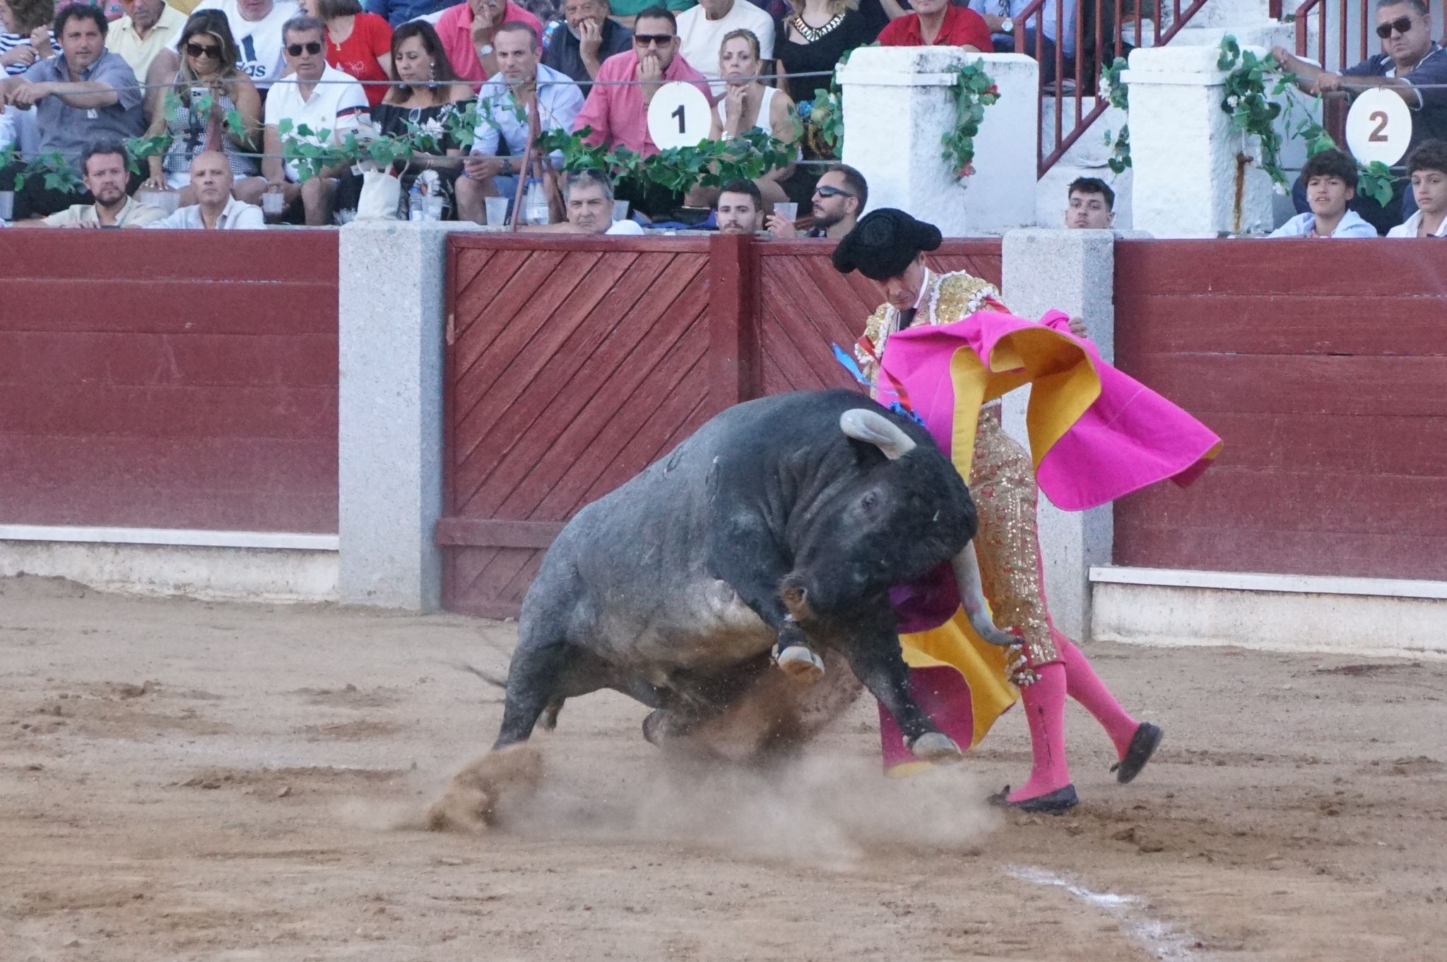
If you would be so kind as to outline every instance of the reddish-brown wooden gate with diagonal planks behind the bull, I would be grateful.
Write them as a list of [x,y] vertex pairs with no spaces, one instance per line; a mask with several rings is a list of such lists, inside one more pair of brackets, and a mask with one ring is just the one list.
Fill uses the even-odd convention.
[[[724,408],[852,380],[878,286],[831,242],[453,234],[443,603],[514,616],[563,524]],[[1000,281],[1000,242],[943,271]]]

